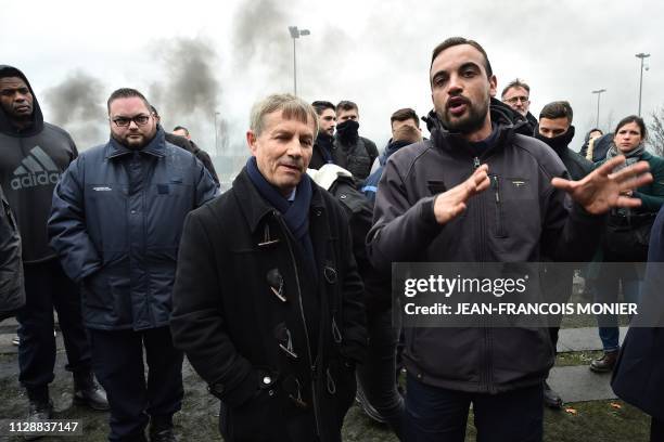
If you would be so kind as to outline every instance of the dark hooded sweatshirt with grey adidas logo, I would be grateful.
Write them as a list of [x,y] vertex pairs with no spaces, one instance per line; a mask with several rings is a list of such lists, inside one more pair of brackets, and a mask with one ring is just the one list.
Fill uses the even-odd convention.
[[33,94],[33,123],[20,130],[0,107],[0,184],[16,218],[26,264],[55,258],[47,237],[53,188],[76,158],[74,140],[43,121],[30,83],[15,67],[0,65],[0,78],[18,77]]

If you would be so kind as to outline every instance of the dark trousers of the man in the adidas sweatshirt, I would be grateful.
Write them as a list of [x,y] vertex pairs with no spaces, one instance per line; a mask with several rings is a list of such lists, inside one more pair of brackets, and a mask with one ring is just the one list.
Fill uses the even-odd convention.
[[53,308],[67,352],[66,369],[90,370],[90,344],[80,313],[80,296],[76,284],[64,273],[56,259],[24,265],[25,307],[18,321],[18,380],[28,390],[46,391],[53,381],[55,338]]

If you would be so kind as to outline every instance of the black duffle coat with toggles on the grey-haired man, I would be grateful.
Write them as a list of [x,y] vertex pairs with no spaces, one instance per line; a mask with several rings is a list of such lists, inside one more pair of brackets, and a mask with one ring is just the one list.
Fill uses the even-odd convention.
[[[170,327],[221,399],[226,440],[308,442],[317,427],[320,441],[341,440],[367,339],[362,284],[343,209],[314,187],[318,284],[246,168],[184,223]],[[318,306],[314,321],[307,304]]]

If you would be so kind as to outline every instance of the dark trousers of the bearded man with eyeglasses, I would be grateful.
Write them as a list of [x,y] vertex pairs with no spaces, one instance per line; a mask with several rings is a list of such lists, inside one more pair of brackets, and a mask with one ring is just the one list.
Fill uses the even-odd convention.
[[[182,405],[182,358],[169,327],[89,329],[92,367],[111,405],[110,441],[141,440],[150,418],[169,421]],[[148,381],[143,367],[143,347]]]

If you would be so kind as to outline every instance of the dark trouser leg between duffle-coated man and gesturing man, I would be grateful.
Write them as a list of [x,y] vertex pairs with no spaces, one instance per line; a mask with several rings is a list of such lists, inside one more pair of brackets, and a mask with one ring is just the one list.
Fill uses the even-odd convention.
[[392,310],[367,317],[369,346],[365,362],[357,367],[359,388],[369,403],[387,420],[397,437],[403,435],[404,399],[395,379],[399,328],[392,325]]

